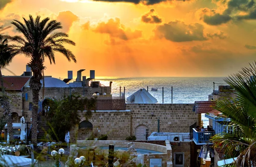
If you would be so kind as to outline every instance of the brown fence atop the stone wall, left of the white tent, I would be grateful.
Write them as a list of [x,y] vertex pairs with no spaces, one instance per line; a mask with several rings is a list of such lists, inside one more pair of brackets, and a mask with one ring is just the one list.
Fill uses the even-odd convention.
[[125,99],[123,97],[97,97],[95,110],[125,110]]

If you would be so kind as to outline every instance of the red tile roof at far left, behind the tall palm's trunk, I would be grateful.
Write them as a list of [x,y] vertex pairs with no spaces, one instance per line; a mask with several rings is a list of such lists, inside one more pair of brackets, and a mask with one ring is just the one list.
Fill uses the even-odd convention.
[[30,76],[3,76],[3,86],[6,91],[20,91],[29,79]]

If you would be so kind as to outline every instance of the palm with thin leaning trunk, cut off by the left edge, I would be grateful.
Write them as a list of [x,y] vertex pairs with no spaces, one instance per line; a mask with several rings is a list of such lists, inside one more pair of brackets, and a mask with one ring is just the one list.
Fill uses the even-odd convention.
[[15,52],[8,45],[7,39],[0,34],[0,81],[1,81],[1,88],[2,88],[2,96],[0,99],[0,104],[4,109],[4,116],[6,117],[6,120],[7,120],[7,128],[8,128],[10,141],[13,140],[12,115],[11,115],[9,98],[5,95],[5,89],[3,85],[3,76],[2,76],[1,70],[5,66],[9,65],[9,63],[12,61],[14,56],[15,56]]

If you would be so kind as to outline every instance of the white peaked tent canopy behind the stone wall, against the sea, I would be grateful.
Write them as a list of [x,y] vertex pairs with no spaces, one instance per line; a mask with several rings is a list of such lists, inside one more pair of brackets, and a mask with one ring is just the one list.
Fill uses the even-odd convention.
[[157,99],[154,98],[147,90],[140,89],[126,98],[127,103],[157,103]]

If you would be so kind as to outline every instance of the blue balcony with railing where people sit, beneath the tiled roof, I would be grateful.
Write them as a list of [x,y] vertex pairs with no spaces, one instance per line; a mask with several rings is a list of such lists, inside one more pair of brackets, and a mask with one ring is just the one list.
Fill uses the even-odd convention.
[[204,145],[206,143],[209,144],[209,140],[212,136],[215,135],[215,131],[212,132],[198,132],[193,128],[193,141],[197,145]]

